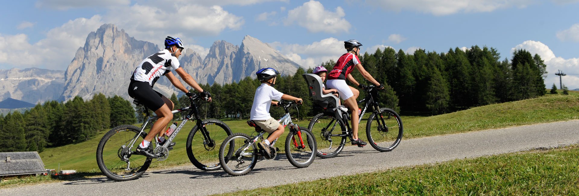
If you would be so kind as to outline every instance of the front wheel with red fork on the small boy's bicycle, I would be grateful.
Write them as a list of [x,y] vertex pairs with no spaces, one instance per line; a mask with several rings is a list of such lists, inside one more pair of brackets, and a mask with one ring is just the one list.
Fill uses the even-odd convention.
[[296,168],[305,168],[316,158],[316,138],[306,128],[299,129],[285,138],[285,156]]

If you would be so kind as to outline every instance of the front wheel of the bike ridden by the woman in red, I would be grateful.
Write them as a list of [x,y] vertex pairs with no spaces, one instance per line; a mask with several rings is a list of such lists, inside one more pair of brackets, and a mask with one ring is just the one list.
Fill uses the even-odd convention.
[[394,110],[380,108],[380,113],[372,113],[366,124],[368,143],[378,151],[391,151],[402,140],[402,120]]

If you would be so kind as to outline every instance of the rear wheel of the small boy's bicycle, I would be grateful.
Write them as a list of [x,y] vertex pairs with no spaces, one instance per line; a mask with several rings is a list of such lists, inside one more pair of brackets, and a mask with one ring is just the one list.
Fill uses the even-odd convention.
[[[247,134],[232,134],[225,138],[219,148],[219,163],[232,176],[246,175],[255,167],[258,157],[257,145]],[[244,150],[246,149],[247,150]]]

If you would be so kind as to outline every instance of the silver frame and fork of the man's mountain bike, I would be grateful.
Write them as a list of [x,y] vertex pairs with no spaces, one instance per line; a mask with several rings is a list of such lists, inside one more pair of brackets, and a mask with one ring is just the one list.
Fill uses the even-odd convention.
[[[189,121],[189,119],[191,119],[192,117],[195,117],[197,126],[199,126],[201,128],[201,134],[203,134],[203,137],[206,140],[204,142],[207,142],[208,146],[210,146],[210,147],[215,146],[215,142],[211,139],[206,127],[203,127],[201,125],[202,121],[201,121],[201,116],[200,116],[199,110],[197,109],[197,105],[195,104],[195,102],[193,102],[193,100],[195,100],[195,99],[196,98],[189,100],[190,106],[186,106],[185,108],[171,111],[171,113],[173,113],[173,114],[181,113],[181,112],[185,112],[185,111],[189,111],[189,113],[187,114],[185,119],[183,119],[183,121],[181,121],[181,124],[179,124],[179,126],[177,128],[175,128],[175,131],[173,131],[173,134],[171,134],[169,136],[169,138],[167,139],[167,142],[165,142],[165,144],[162,147],[167,147],[171,143],[171,141],[175,138],[175,136],[177,136],[179,131],[181,131],[181,128],[183,128],[185,123],[187,123],[187,121]],[[146,109],[146,107],[144,108],[144,110],[145,110],[145,116],[149,116],[149,110]],[[141,133],[145,131],[146,125],[151,123],[152,121],[157,120],[157,119],[159,119],[159,116],[156,116],[156,115],[148,117],[148,119],[145,121],[145,123],[143,123],[143,125],[141,127],[141,131],[137,135],[135,135],[135,137],[131,140],[131,143],[129,145],[129,151],[130,151],[131,147],[133,147],[134,143],[137,142],[138,136],[141,135]],[[163,130],[161,130],[161,131],[163,131]],[[159,147],[159,146],[157,146],[157,147]],[[131,152],[131,154],[134,154],[134,151],[130,151],[130,152]]]

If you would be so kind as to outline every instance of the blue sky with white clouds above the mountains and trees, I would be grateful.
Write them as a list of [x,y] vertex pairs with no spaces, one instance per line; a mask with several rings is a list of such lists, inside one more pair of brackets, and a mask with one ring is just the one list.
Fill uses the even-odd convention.
[[[0,69],[65,70],[89,32],[110,23],[156,44],[180,36],[202,55],[215,40],[240,45],[250,35],[302,66],[339,57],[348,39],[372,52],[479,45],[510,58],[522,48],[544,58],[551,87],[558,69],[579,74],[577,10],[579,0],[8,1],[0,8]],[[563,83],[579,88],[579,77]]]

